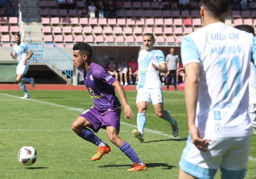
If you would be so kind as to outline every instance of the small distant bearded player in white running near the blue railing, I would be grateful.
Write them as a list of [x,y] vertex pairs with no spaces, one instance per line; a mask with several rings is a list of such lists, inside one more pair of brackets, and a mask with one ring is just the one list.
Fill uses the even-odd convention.
[[28,45],[24,42],[21,42],[21,35],[19,33],[15,33],[14,35],[15,41],[17,44],[13,47],[13,52],[10,52],[10,56],[13,59],[17,59],[18,57],[18,64],[16,68],[16,81],[19,83],[21,90],[24,92],[24,96],[21,99],[30,98],[28,91],[26,90],[26,86],[24,82],[29,82],[32,87],[35,87],[34,78],[24,78],[23,76],[28,71],[28,59],[32,57],[33,52],[28,48]]

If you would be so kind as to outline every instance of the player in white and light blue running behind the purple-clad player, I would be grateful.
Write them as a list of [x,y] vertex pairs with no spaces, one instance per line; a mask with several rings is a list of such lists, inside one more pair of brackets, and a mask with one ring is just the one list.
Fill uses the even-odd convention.
[[138,130],[134,129],[132,133],[141,142],[145,140],[143,131],[149,103],[152,103],[154,106],[154,111],[158,117],[171,124],[173,136],[177,137],[179,134],[177,121],[172,118],[168,111],[164,110],[164,98],[159,72],[167,73],[168,68],[164,53],[161,50],[154,49],[154,42],[154,36],[151,33],[145,33],[143,35],[143,46],[145,49],[139,52],[138,58],[139,80],[136,98]]

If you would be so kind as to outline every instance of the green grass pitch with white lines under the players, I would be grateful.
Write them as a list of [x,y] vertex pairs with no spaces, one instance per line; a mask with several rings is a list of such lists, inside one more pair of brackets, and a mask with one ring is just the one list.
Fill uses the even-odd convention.
[[[164,108],[179,124],[179,138],[171,138],[171,127],[158,118],[152,106],[146,114],[145,142],[132,136],[137,109],[136,92],[127,91],[134,119],[121,114],[120,137],[128,141],[147,164],[147,171],[126,172],[132,163],[107,139],[104,129],[96,134],[111,147],[100,161],[90,158],[97,147],[82,140],[70,129],[81,111],[92,106],[87,91],[30,90],[32,100],[20,100],[19,90],[0,91],[0,178],[1,179],[175,179],[179,160],[188,135],[184,92],[164,91]],[[16,97],[15,97],[16,96]],[[153,130],[153,131],[152,131]],[[23,146],[33,146],[38,160],[31,166],[19,163],[17,153]],[[234,156],[236,157],[236,156]],[[256,179],[256,135],[252,134],[246,179]],[[220,178],[220,172],[216,179]]]

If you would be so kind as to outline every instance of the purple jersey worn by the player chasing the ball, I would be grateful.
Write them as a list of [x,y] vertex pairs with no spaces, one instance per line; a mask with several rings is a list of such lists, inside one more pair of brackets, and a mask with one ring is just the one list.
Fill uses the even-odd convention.
[[115,88],[112,86],[116,79],[106,72],[102,66],[91,63],[88,72],[82,70],[82,74],[95,107],[104,109],[121,106],[115,95]]

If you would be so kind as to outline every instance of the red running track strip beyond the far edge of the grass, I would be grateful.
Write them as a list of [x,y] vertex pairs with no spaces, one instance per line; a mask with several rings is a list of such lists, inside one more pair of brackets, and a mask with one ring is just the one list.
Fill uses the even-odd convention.
[[[26,89],[33,89],[30,84],[26,84]],[[184,87],[177,87],[178,90],[183,91]],[[18,84],[0,84],[0,90],[21,90]],[[63,84],[36,84],[34,90],[87,90],[85,85],[63,85]],[[136,85],[124,86],[126,91],[135,91]],[[166,86],[162,87],[162,90],[166,90]],[[174,91],[174,87],[169,87],[170,91]]]

